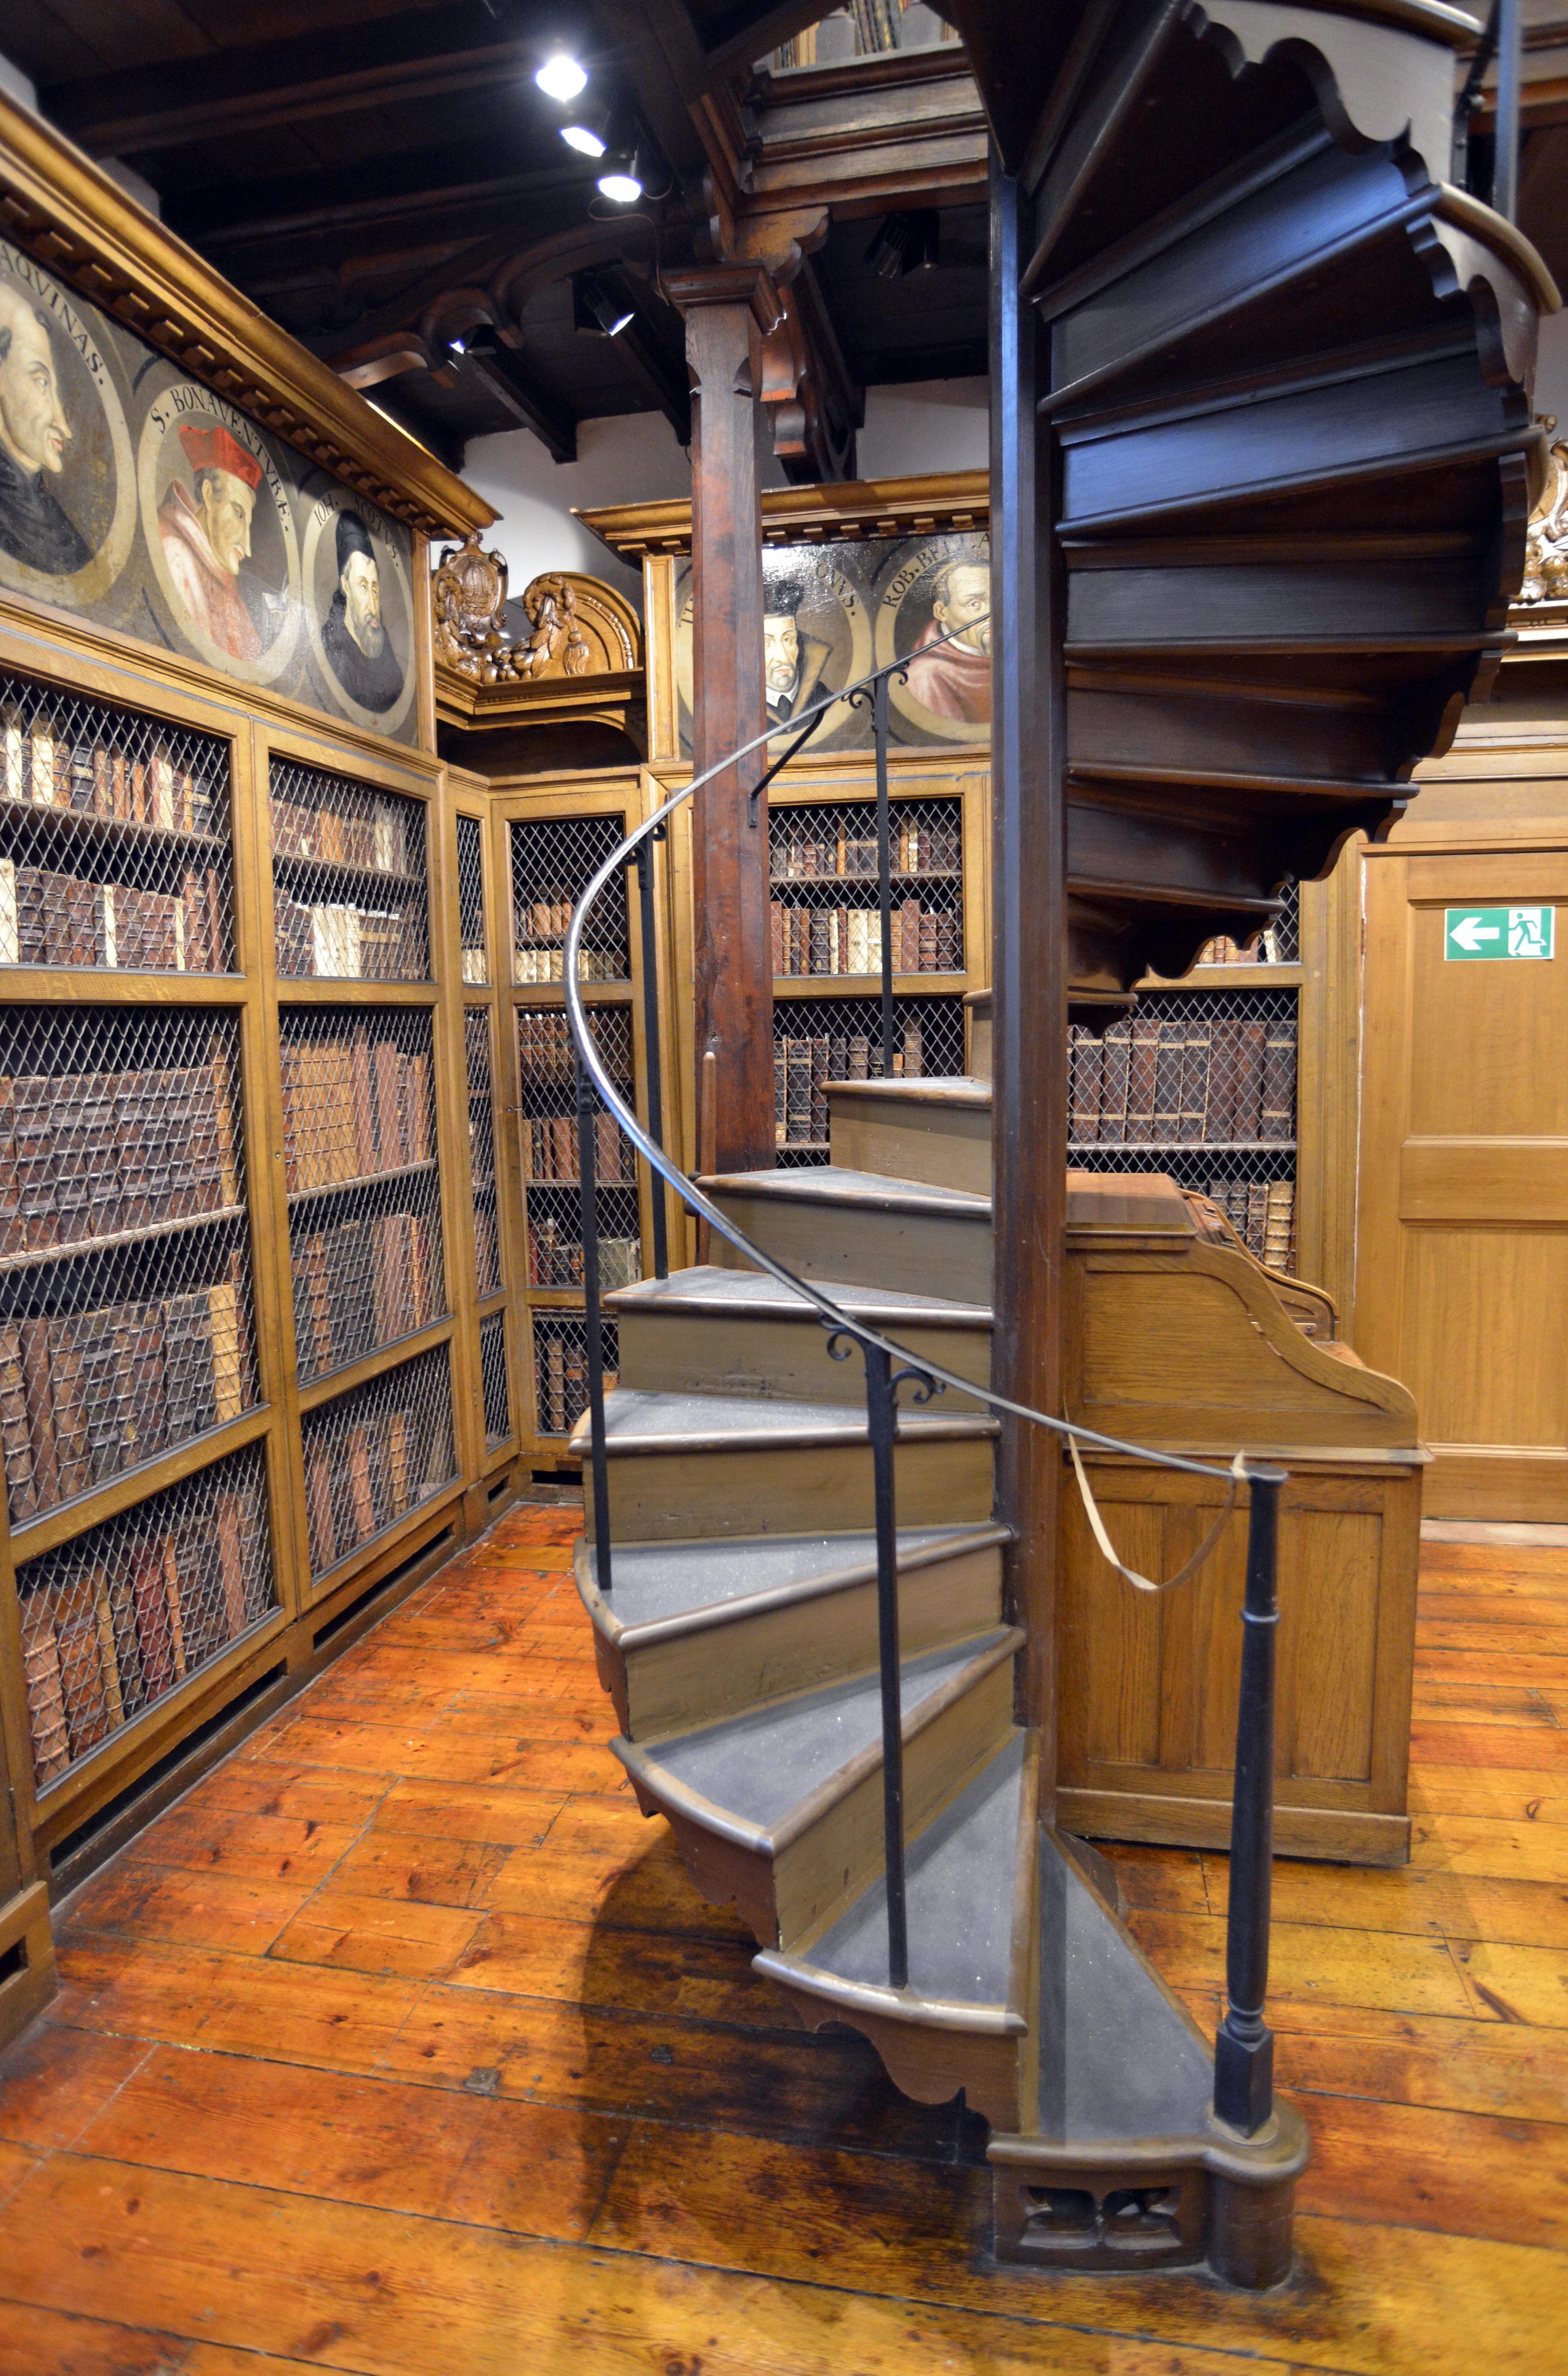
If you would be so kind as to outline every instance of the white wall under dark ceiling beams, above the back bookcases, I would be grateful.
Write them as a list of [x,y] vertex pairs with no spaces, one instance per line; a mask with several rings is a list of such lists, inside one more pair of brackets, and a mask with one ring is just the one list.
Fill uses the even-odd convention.
[[[860,430],[862,478],[908,478],[915,470],[979,470],[986,466],[986,380],[917,380],[910,387],[870,387]],[[511,577],[513,599],[542,570],[587,570],[641,599],[641,575],[615,561],[573,511],[599,504],[651,504],[691,494],[691,463],[663,413],[620,413],[577,425],[577,461],[549,459],[532,430],[475,437],[463,478],[501,513],[494,544]],[[782,487],[784,473],[767,456],[763,485]]]

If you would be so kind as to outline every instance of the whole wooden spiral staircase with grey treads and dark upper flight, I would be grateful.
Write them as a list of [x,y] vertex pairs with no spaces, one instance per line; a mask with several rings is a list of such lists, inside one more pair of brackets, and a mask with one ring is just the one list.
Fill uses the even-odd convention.
[[[1038,1402],[1029,1214],[1055,1195],[1060,1219],[1064,998],[1124,1007],[1397,813],[1501,644],[1556,297],[1442,185],[1473,31],[1447,7],[948,14],[1000,150],[998,1110],[981,1079],[843,1086],[827,1169],[706,1186],[915,1359]],[[998,1487],[998,1421],[957,1392],[900,1416],[891,1989],[860,1361],[727,1247],[608,1307],[613,1594],[587,1547],[580,1587],[618,1756],[696,1887],[741,1908],[808,2024],[991,2119],[1000,2255],[1278,2281],[1304,2129],[1285,2105],[1250,2138],[1214,2119],[1207,2041],[1048,1820],[1029,1461]]]

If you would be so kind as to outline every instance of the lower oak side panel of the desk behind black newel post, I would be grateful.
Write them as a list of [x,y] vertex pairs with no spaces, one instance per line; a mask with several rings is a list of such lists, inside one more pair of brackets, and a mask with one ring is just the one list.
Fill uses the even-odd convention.
[[[1402,1863],[1418,1461],[1290,1456],[1281,1506],[1278,1844],[1285,1856]],[[1119,1552],[1171,1575],[1224,1490],[1088,1464]],[[1186,1585],[1133,1592],[1062,1499],[1060,1787],[1069,1830],[1224,1846],[1240,1685],[1245,1511]]]

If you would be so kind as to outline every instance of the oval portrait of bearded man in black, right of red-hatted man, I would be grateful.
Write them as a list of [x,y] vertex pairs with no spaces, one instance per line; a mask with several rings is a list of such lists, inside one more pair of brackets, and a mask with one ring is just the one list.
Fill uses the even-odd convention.
[[304,527],[311,661],[335,706],[394,734],[416,691],[413,592],[392,525],[347,487],[323,487]]

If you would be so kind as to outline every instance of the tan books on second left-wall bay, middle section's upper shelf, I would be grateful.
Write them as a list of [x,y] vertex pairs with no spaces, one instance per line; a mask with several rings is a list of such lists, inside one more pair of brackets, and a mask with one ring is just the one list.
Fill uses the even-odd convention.
[[283,1178],[290,1195],[430,1162],[430,1057],[373,1024],[283,1043]]

